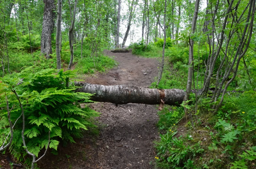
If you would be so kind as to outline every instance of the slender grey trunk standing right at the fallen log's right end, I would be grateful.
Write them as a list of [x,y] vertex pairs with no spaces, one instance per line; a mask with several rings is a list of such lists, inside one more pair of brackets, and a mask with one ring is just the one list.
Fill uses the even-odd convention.
[[[196,0],[195,3],[195,10],[194,10],[194,16],[192,20],[192,26],[191,26],[191,33],[195,33],[196,30],[196,20],[198,16],[198,9],[200,5],[200,0]],[[193,49],[194,49],[194,41],[193,39],[189,38],[189,53],[188,53],[188,81],[187,81],[187,88],[186,88],[186,96],[184,98],[184,101],[187,101],[189,99],[190,93],[191,93],[191,86],[192,86],[192,76],[193,76]],[[185,108],[185,115],[186,118],[188,116],[188,110]]]

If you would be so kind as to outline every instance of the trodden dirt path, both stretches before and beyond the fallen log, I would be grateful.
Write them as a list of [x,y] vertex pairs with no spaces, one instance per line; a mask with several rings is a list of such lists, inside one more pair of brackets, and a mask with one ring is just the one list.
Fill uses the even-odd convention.
[[[138,58],[131,53],[112,53],[119,62],[117,68],[97,77],[87,78],[86,82],[100,85],[135,85],[148,87],[157,76],[155,59]],[[132,169],[153,168],[153,141],[158,137],[156,127],[158,116],[156,106],[127,104],[116,107],[111,103],[97,103],[92,108],[101,112],[100,123],[107,127],[97,141],[98,154],[86,165],[91,168]],[[132,152],[133,151],[133,152]],[[104,167],[97,167],[102,164]]]

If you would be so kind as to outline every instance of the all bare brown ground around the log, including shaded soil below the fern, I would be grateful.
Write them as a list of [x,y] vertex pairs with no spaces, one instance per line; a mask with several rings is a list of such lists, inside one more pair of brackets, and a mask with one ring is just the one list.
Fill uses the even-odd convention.
[[[138,58],[131,53],[112,53],[119,63],[108,73],[87,77],[85,82],[101,85],[148,87],[158,75],[156,59]],[[96,118],[99,133],[92,131],[77,139],[76,144],[60,147],[58,155],[48,155],[40,168],[76,169],[153,169],[158,122],[155,105],[93,103],[90,107],[101,113]],[[96,131],[97,133],[97,131]]]

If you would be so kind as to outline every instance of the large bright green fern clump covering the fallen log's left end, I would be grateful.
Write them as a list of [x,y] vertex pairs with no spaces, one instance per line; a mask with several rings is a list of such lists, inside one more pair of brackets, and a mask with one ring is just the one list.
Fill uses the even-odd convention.
[[[78,88],[75,86],[66,87],[67,77],[74,78],[75,72],[57,72],[55,69],[34,72],[32,68],[27,68],[1,79],[0,139],[4,139],[10,131],[5,93],[9,109],[13,106],[10,113],[12,124],[22,113],[14,91],[18,93],[23,105],[27,149],[36,156],[47,147],[49,131],[50,148],[56,152],[60,142],[64,145],[68,142],[74,143],[74,138],[81,137],[83,130],[87,130],[88,126],[94,127],[90,118],[98,116],[98,113],[80,106],[81,103],[91,102],[89,99],[92,95],[74,92]],[[13,141],[9,147],[10,153],[18,160],[22,160],[26,155],[21,136],[22,124],[20,118],[15,125]]]

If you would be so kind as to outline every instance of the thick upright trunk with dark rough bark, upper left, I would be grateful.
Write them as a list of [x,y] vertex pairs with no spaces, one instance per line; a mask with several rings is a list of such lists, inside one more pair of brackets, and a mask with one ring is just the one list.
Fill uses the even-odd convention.
[[44,15],[43,15],[43,27],[41,36],[41,53],[46,56],[47,59],[51,58],[53,54],[52,50],[52,31],[53,31],[53,16],[55,9],[54,0],[44,0]]

